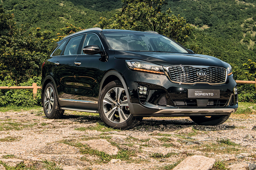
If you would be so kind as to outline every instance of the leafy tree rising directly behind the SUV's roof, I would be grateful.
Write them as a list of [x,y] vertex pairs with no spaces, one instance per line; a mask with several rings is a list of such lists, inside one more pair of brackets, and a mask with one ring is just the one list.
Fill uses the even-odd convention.
[[110,19],[100,18],[94,27],[104,29],[130,29],[136,31],[156,31],[184,43],[193,31],[183,17],[175,16],[168,9],[162,12],[168,0],[123,0],[121,11]]

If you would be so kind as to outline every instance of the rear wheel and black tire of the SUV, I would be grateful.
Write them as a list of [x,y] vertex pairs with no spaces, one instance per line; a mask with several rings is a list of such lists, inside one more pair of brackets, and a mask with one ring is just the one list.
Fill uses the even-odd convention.
[[44,88],[43,108],[44,114],[49,119],[59,119],[64,113],[64,110],[60,108],[52,82],[49,82]]

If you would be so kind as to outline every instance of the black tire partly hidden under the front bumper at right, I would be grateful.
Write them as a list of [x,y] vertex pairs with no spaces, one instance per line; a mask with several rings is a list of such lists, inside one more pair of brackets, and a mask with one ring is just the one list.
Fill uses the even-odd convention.
[[204,126],[216,126],[223,124],[228,120],[230,115],[225,116],[189,116],[193,122]]

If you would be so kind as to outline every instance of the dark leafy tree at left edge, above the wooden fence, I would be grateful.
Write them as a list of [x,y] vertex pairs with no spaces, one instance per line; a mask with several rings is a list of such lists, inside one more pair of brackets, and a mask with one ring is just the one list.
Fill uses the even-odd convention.
[[40,28],[31,28],[29,25],[21,25],[16,28],[13,24],[13,16],[5,13],[1,8],[0,23],[5,32],[0,36],[0,79],[9,76],[17,84],[26,81],[33,76],[39,76],[41,65],[48,53],[49,31],[41,31]]

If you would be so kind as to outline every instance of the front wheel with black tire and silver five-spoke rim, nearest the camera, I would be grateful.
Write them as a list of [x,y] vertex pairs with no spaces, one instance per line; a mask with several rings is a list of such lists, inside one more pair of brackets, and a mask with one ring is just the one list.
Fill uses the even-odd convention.
[[98,109],[101,120],[115,129],[133,128],[143,119],[130,114],[126,92],[120,81],[110,82],[103,88]]

